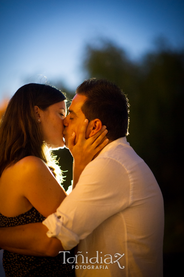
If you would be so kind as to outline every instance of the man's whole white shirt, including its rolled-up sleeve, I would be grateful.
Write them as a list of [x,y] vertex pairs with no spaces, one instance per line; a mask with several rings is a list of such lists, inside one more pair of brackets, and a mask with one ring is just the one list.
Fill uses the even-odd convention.
[[125,137],[109,143],[85,167],[74,190],[43,224],[66,251],[78,244],[76,276],[163,274],[162,193]]

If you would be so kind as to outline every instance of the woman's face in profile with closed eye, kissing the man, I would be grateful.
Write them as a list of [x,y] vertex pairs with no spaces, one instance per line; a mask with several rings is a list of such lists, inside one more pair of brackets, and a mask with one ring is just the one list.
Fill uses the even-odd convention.
[[64,147],[63,140],[63,119],[66,117],[66,104],[61,101],[49,106],[45,111],[39,109],[38,121],[44,141],[52,148]]

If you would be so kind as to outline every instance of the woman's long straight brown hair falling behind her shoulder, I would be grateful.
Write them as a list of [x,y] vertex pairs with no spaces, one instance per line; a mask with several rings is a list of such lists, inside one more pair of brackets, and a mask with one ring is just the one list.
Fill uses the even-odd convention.
[[53,163],[50,151],[43,142],[34,106],[46,110],[65,99],[60,90],[49,85],[31,83],[16,91],[0,122],[0,177],[6,167],[26,156],[42,159],[55,173],[57,165]]

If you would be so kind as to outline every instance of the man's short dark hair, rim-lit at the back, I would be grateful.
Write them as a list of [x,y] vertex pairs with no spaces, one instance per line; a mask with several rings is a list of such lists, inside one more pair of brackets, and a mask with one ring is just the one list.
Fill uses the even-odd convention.
[[76,94],[87,97],[81,110],[89,121],[99,118],[107,126],[108,139],[115,140],[128,134],[129,104],[119,86],[92,78],[78,86]]

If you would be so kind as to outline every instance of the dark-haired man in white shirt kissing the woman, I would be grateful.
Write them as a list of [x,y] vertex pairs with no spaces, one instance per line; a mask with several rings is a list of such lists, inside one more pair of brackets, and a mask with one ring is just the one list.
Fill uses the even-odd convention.
[[[109,143],[45,219],[47,235],[59,239],[65,251],[78,244],[76,276],[162,276],[163,199],[151,170],[126,141],[127,98],[108,81],[84,81],[64,119],[66,146],[73,132],[77,142],[85,118],[86,139],[105,125]],[[37,241],[43,240],[45,226],[32,229]],[[45,240],[50,255],[59,249],[57,239]],[[73,260],[66,262],[74,266]]]

